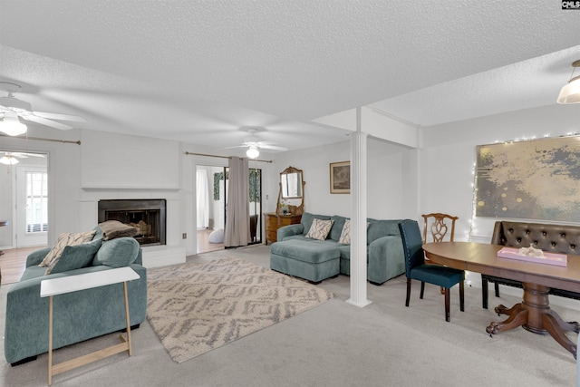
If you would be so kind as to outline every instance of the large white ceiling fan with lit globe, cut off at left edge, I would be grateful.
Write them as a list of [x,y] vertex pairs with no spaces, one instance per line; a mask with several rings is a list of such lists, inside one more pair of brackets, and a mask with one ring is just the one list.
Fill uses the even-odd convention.
[[7,94],[4,97],[0,97],[0,118],[4,118],[3,121],[0,121],[0,131],[4,131],[9,136],[17,136],[27,130],[26,125],[20,122],[18,117],[60,129],[61,131],[68,131],[73,129],[73,127],[53,120],[86,122],[79,116],[33,111],[29,102],[14,98],[13,93],[20,91],[20,85],[18,84],[0,82],[0,91]]

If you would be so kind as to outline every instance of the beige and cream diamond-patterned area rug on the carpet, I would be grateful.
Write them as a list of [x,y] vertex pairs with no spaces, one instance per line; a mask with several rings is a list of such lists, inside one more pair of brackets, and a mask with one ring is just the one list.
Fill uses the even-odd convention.
[[331,300],[304,281],[224,258],[150,269],[147,319],[177,363]]

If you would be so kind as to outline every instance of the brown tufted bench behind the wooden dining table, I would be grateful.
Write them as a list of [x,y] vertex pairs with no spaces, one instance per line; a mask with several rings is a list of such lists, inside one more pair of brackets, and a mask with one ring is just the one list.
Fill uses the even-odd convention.
[[[492,245],[506,247],[534,247],[546,253],[571,254],[580,256],[580,227],[568,225],[551,225],[545,223],[497,221],[491,236]],[[522,283],[498,276],[481,275],[482,303],[488,308],[488,282],[495,284],[496,296],[499,286],[522,287]],[[580,294],[567,290],[552,288],[550,295],[560,295],[580,299]]]

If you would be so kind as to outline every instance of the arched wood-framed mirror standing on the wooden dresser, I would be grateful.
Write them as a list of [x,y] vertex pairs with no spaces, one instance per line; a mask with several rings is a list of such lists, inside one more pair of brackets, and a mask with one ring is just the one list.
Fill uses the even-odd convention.
[[304,174],[302,169],[288,167],[280,172],[280,191],[276,213],[301,215],[304,211]]

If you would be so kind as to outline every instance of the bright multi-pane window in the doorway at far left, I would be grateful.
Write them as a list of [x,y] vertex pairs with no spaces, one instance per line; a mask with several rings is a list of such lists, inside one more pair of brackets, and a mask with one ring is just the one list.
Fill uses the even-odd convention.
[[26,232],[48,230],[48,174],[26,172]]

